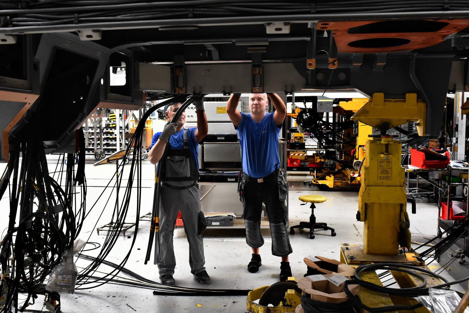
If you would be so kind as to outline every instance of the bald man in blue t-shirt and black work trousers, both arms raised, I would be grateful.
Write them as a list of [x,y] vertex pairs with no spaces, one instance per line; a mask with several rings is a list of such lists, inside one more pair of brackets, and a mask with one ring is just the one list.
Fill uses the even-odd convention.
[[231,95],[227,113],[238,132],[242,152],[238,192],[244,208],[246,243],[252,249],[248,271],[256,273],[262,265],[259,247],[264,244],[260,227],[264,202],[272,234],[272,254],[282,258],[280,281],[285,281],[292,275],[288,261],[292,248],[288,239],[285,205],[287,184],[280,171],[279,135],[287,107],[278,94],[271,93],[269,97],[275,107],[274,113],[265,113],[269,103],[265,93],[250,94],[250,114],[238,111],[240,94]]

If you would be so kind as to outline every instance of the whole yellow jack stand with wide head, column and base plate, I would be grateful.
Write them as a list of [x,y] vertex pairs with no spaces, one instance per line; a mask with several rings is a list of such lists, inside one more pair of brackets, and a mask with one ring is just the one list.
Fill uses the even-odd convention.
[[371,139],[365,143],[357,212],[357,220],[364,222],[363,247],[342,244],[340,259],[343,263],[386,261],[424,265],[415,253],[400,253],[399,246],[404,251],[411,249],[401,141],[393,140],[386,130],[418,121],[418,133],[423,136],[425,113],[425,103],[417,100],[415,93],[408,93],[406,99],[384,99],[384,94],[375,93],[352,117],[379,129],[381,135],[370,134]]

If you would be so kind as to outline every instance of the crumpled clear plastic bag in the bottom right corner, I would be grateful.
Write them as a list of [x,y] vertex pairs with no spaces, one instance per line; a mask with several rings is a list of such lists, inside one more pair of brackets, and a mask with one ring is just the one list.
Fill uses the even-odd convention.
[[[454,290],[430,288],[428,293],[428,296],[418,296],[416,299],[432,313],[454,312],[461,301],[461,297]],[[464,313],[469,313],[469,308],[466,308]]]

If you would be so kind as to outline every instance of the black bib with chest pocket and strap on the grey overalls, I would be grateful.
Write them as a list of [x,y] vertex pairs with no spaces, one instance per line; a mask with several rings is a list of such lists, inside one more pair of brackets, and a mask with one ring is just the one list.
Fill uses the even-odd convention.
[[199,170],[189,153],[187,130],[183,134],[182,149],[168,149],[161,159],[160,179],[163,185],[173,189],[189,189],[197,184]]

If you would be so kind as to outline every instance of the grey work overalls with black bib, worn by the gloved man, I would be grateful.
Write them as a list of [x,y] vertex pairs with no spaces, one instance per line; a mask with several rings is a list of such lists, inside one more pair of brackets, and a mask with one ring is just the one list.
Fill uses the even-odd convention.
[[[197,158],[197,155],[194,157]],[[189,242],[190,272],[200,273],[205,270],[202,232],[206,222],[200,209],[198,168],[194,158],[190,155],[187,130],[183,133],[183,148],[168,149],[166,158],[162,159],[160,164],[159,244],[161,258],[157,261],[159,276],[174,275],[176,259],[173,232],[179,210],[181,210],[184,232]]]

